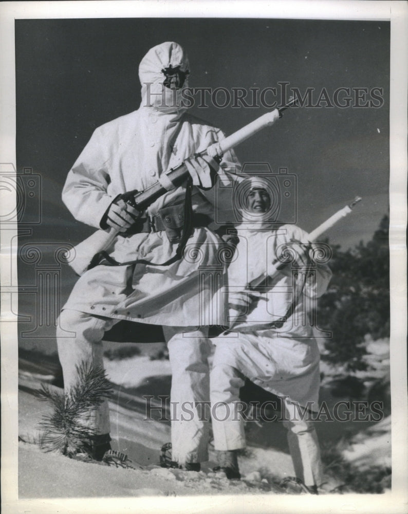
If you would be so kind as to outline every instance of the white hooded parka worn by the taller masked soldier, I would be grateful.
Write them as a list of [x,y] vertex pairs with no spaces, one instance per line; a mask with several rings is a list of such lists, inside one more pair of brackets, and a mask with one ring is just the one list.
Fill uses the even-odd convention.
[[[78,221],[100,228],[117,195],[144,190],[183,159],[224,138],[217,128],[186,113],[182,89],[162,85],[161,70],[170,64],[188,70],[187,58],[176,43],[158,45],[146,54],[139,67],[140,108],[97,128],[70,170],[62,197]],[[210,191],[193,187],[194,213],[207,215],[210,222],[232,221],[228,186],[236,180],[238,166],[234,153],[227,152],[221,162],[222,179],[219,174],[215,187]],[[221,181],[224,187],[219,187]],[[147,214],[155,216],[162,207],[183,201],[185,195],[185,186],[168,191]],[[160,325],[220,323],[222,307],[213,308],[212,298],[222,281],[214,287],[209,285],[211,280],[202,279],[203,266],[220,264],[220,243],[216,234],[202,226],[193,229],[186,257],[170,266],[96,266],[80,277],[64,308]],[[176,248],[159,231],[118,235],[107,251],[118,262],[163,263]]]

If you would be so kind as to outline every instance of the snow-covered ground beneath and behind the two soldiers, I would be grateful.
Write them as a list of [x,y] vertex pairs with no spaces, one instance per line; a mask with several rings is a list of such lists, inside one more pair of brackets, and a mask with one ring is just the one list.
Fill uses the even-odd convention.
[[[377,362],[372,373],[384,366],[387,345],[370,342],[370,363]],[[144,347],[148,354],[149,347]],[[143,351],[143,350],[142,350]],[[39,354],[33,354],[38,357]],[[381,365],[380,365],[381,364]],[[192,494],[276,494],[282,492],[277,483],[294,475],[288,453],[285,431],[276,423],[252,424],[248,428],[248,451],[239,457],[244,480],[228,481],[212,472],[214,451],[202,471],[186,472],[158,467],[161,446],[170,441],[169,421],[146,420],[144,395],[170,393],[168,360],[151,360],[137,355],[121,360],[105,359],[115,392],[109,402],[113,448],[124,452],[134,469],[115,468],[70,460],[62,455],[44,453],[35,443],[39,438],[39,422],[49,412],[47,403],[35,398],[33,392],[42,382],[50,382],[55,370],[49,362],[21,360],[19,380],[19,494],[20,498],[138,497]],[[329,366],[323,365],[325,379],[322,396],[338,401],[329,389]],[[338,370],[336,370],[338,372]],[[384,375],[381,369],[382,376]],[[367,384],[369,373],[363,377]],[[344,395],[349,398],[349,393]],[[158,404],[157,404],[158,405]],[[344,458],[359,468],[391,466],[390,417],[377,424],[317,424],[323,444],[337,445],[339,438],[351,432],[342,447]],[[146,469],[146,466],[149,468]],[[153,467],[152,467],[153,466]]]

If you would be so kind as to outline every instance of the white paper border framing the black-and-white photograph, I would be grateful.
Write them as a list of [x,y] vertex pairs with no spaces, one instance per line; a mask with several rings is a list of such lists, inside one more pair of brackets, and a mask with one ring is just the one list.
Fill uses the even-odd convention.
[[[234,16],[231,13],[234,13]],[[3,2],[0,4],[1,118],[0,162],[16,163],[15,156],[15,19],[109,18],[109,17],[269,17],[297,19],[391,21],[390,106],[390,256],[391,256],[391,385],[392,385],[392,492],[382,495],[347,494],[336,497],[205,496],[126,499],[18,500],[17,492],[17,311],[7,285],[8,256],[16,259],[16,227],[2,228],[2,506],[4,512],[343,512],[405,513],[408,500],[407,393],[406,393],[406,136],[408,6],[405,2],[240,1],[182,0],[103,2]],[[10,212],[15,199],[0,191],[1,203]],[[10,242],[10,243],[9,243]],[[16,269],[13,266],[12,269]],[[7,297],[7,298],[6,298]],[[9,302],[10,303],[10,302]],[[334,500],[335,498],[335,500]]]

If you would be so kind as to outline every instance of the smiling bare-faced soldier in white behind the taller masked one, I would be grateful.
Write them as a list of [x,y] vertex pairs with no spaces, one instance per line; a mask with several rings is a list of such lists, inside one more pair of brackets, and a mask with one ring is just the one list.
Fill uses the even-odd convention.
[[[313,300],[331,278],[326,265],[312,264],[307,234],[294,225],[270,221],[270,185],[252,177],[237,227],[236,259],[229,268],[229,305],[238,314],[231,331],[216,345],[210,375],[214,446],[218,463],[230,479],[239,478],[237,450],[245,448],[244,418],[239,388],[245,377],[281,398],[283,424],[296,477],[317,492],[323,482],[320,449],[313,423],[300,419],[305,408],[318,410],[320,354],[313,327],[307,321]],[[287,248],[292,258],[277,266]],[[263,287],[251,281],[269,274]],[[274,270],[274,272],[272,271]]]

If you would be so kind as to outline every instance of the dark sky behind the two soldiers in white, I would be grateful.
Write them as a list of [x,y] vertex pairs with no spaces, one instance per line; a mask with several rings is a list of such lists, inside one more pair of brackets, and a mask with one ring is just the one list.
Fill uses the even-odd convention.
[[[312,105],[327,91],[328,102],[288,109],[235,151],[250,168],[268,163],[273,173],[287,168],[295,175],[296,189],[290,203],[282,197],[282,209],[307,231],[360,195],[353,213],[326,235],[343,249],[370,240],[388,212],[389,22],[53,19],[15,22],[17,171],[32,170],[38,188],[34,199],[27,197],[23,221],[31,234],[22,235],[20,245],[77,244],[94,231],[63,205],[66,175],[96,127],[139,107],[139,62],[164,41],[188,52],[191,87],[225,88],[231,95],[233,88],[248,95],[258,88],[258,106],[234,107],[220,93],[218,105],[210,99],[205,107],[198,101],[192,107],[192,114],[227,135],[271,111],[259,97],[268,87],[277,91],[265,94],[268,104],[280,100],[284,82],[302,96],[313,88]],[[334,105],[339,88],[349,88],[352,97],[356,88],[366,88],[377,107],[357,107],[364,98],[349,107]],[[345,96],[343,90],[340,102]],[[30,219],[40,223],[30,225]],[[35,283],[32,266],[22,264],[20,277],[25,271]],[[75,275],[64,273],[69,291]]]

